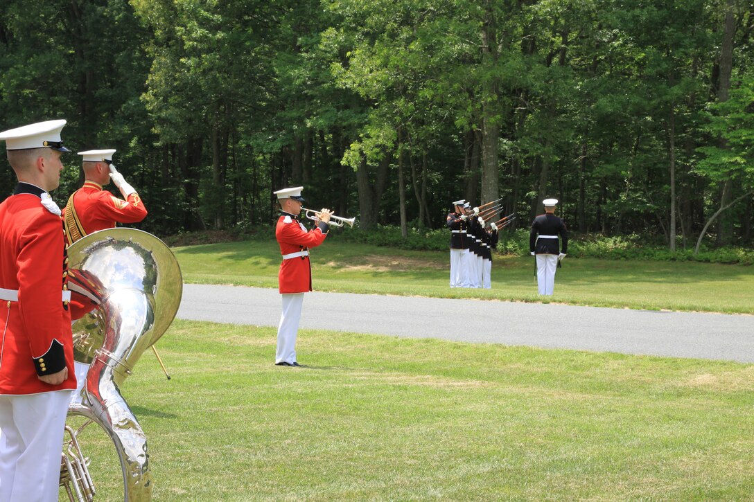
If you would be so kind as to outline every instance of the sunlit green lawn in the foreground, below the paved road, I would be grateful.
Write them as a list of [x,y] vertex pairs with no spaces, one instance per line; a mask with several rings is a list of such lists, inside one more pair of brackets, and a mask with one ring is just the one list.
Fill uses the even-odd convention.
[[[147,351],[122,386],[154,500],[754,493],[752,365],[307,330],[296,369],[274,366],[274,328],[187,321],[158,346],[172,380]],[[90,432],[95,476],[119,476]],[[111,477],[96,500],[122,500]]]

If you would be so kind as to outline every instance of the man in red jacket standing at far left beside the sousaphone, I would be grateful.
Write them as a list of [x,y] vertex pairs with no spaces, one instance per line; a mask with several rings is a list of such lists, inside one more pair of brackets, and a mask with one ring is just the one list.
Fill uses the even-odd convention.
[[18,185],[0,204],[0,500],[57,500],[73,340],[60,208],[64,120],[0,133]]

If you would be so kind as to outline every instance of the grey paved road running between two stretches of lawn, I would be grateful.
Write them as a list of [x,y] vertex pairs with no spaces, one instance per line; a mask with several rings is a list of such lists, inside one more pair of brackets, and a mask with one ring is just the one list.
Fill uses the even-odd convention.
[[[277,326],[280,295],[185,284],[177,317]],[[746,315],[311,292],[301,328],[754,363],[754,316]]]

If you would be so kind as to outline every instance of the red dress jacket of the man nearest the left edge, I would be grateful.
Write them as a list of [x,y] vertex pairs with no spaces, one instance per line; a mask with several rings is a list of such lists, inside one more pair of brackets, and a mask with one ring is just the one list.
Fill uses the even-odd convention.
[[[0,288],[17,301],[0,302],[0,394],[20,395],[76,388],[69,305],[68,259],[60,216],[41,204],[41,188],[19,183],[0,204]],[[68,368],[60,385],[38,375]]]

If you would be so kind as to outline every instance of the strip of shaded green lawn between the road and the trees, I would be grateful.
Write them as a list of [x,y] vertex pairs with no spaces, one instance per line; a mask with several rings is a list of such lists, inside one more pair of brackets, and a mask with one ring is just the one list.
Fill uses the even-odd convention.
[[[274,240],[174,251],[186,282],[277,287],[280,251]],[[345,243],[337,236],[311,252],[317,291],[754,314],[754,268],[748,266],[566,258],[555,294],[544,299],[537,295],[533,260],[495,257],[492,289],[450,289],[449,253]]]

